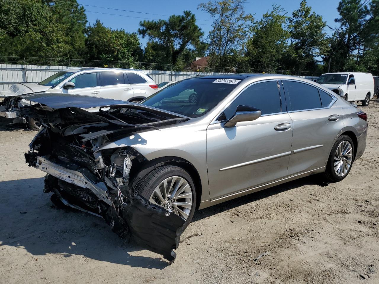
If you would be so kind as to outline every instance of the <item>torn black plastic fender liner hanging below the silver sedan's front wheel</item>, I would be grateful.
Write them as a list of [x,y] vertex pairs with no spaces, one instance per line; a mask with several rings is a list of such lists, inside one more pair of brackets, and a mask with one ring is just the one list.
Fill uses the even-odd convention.
[[122,215],[133,239],[142,247],[174,262],[185,220],[150,203],[138,192],[130,196]]

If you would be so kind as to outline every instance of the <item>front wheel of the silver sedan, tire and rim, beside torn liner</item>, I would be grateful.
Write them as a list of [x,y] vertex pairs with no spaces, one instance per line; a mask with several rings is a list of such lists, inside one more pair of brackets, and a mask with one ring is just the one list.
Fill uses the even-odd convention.
[[196,190],[191,176],[181,167],[166,165],[144,176],[136,190],[151,203],[183,218],[182,230],[191,222],[196,208]]

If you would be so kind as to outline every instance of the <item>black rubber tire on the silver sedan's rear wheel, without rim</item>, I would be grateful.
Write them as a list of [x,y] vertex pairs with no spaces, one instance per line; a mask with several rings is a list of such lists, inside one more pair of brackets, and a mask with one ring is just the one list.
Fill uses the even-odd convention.
[[[341,156],[343,158],[345,158],[345,161],[346,161],[346,159],[351,159],[351,161],[350,161],[350,165],[349,165],[348,170],[345,173],[343,173],[343,175],[341,175],[341,174],[337,173],[338,171],[335,169],[334,162],[336,161],[338,163],[338,157],[337,157],[338,153],[336,153],[336,151],[340,145],[342,146],[341,148],[344,148],[343,143],[345,141],[350,144],[351,150],[348,151],[348,153],[346,153],[347,155],[341,155]],[[347,144],[345,143],[345,145],[347,145]],[[335,156],[336,154],[337,154],[337,156]],[[351,155],[351,157],[349,157],[348,155]],[[343,162],[343,158],[340,159],[342,162]],[[332,147],[332,151],[330,151],[329,159],[328,159],[328,162],[326,164],[326,170],[324,172],[324,179],[326,180],[326,182],[330,182],[330,183],[335,183],[335,182],[343,180],[344,178],[346,178],[346,176],[348,176],[348,174],[351,170],[351,167],[353,165],[353,162],[354,162],[354,144],[348,135],[341,135],[335,141],[335,143]],[[338,164],[336,166],[338,166]],[[341,167],[342,166],[343,165],[341,165]],[[345,168],[342,168],[341,170],[344,171]]]

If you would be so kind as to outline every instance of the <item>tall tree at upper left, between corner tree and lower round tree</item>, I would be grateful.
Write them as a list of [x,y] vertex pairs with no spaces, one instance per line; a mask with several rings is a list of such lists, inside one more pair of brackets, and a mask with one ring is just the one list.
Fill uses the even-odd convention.
[[85,49],[85,28],[87,24],[84,7],[80,6],[77,0],[42,0],[42,3],[50,5],[58,22],[66,27],[65,34],[72,47],[69,58],[80,58]]

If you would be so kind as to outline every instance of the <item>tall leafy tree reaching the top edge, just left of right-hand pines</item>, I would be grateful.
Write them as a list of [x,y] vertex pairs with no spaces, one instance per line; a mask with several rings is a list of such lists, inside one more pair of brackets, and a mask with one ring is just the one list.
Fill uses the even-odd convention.
[[296,70],[317,68],[316,57],[324,54],[327,48],[326,33],[323,33],[325,26],[323,17],[312,12],[306,0],[302,0],[299,9],[288,18],[292,56],[287,57],[287,66]]

